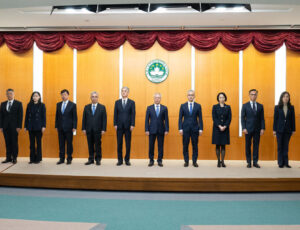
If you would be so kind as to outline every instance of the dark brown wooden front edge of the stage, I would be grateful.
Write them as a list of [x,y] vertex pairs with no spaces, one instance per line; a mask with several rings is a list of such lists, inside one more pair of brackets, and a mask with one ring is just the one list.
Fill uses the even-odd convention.
[[133,178],[1,173],[0,186],[163,192],[299,192],[300,178]]

